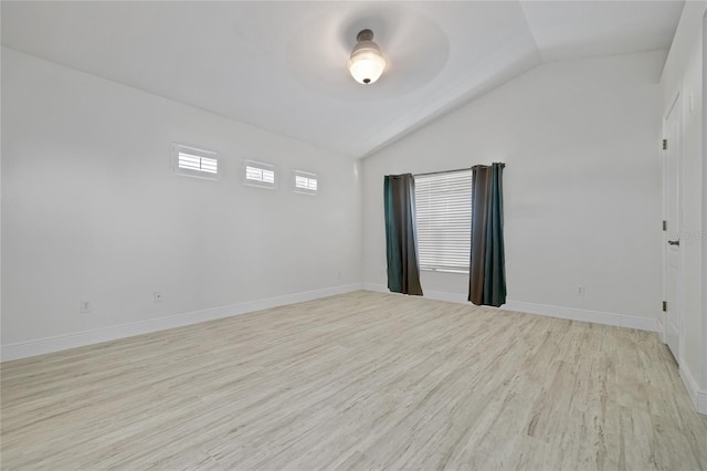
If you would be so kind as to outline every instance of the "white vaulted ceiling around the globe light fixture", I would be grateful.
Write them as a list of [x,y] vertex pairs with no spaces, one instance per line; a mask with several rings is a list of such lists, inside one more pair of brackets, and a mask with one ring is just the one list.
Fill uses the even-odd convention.
[[[363,157],[542,62],[667,50],[683,4],[2,1],[2,45]],[[363,28],[372,85],[345,67]]]

